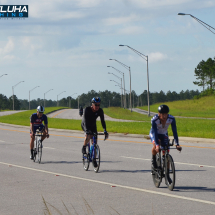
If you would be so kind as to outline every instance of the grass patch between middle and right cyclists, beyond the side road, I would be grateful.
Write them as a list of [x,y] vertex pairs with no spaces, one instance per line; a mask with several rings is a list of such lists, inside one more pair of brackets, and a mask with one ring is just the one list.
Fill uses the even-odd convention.
[[128,109],[120,107],[109,107],[103,108],[104,113],[108,116],[115,119],[127,119],[127,120],[136,120],[136,121],[151,121],[151,118],[147,115],[143,115],[137,112],[131,112]]

